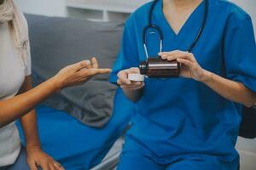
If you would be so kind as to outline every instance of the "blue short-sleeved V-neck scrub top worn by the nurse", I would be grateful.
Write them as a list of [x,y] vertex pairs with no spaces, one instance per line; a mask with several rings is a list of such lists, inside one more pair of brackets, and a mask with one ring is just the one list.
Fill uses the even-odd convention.
[[[117,81],[119,71],[138,67],[146,59],[143,28],[148,26],[151,4],[138,8],[126,21],[122,48],[110,82]],[[204,10],[203,2],[176,35],[166,21],[160,0],[154,8],[153,23],[163,31],[163,51],[186,51],[201,28]],[[147,42],[149,55],[157,56],[158,37],[148,34]],[[207,71],[242,82],[256,92],[253,24],[250,16],[235,4],[209,0],[207,23],[192,53]],[[134,105],[124,150],[163,162],[189,154],[237,161],[235,144],[240,122],[241,105],[224,99],[202,82],[182,77],[147,78],[143,99]]]

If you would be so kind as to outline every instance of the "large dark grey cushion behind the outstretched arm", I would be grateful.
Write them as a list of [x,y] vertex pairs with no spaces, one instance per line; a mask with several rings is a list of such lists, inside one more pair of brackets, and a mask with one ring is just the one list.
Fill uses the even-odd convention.
[[[32,74],[35,84],[65,65],[96,56],[101,67],[113,66],[123,24],[26,15],[30,30]],[[67,111],[86,125],[103,127],[112,115],[116,86],[109,75],[93,77],[82,86],[66,88],[44,104]]]

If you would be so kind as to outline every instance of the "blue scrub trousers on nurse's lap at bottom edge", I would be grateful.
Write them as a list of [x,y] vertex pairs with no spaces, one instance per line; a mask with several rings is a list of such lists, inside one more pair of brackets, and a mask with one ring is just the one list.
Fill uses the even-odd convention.
[[[170,164],[160,164],[149,156],[142,156],[136,152],[125,152],[122,154],[118,170],[227,170],[226,166],[218,163],[213,156],[205,156],[206,160],[189,157]],[[236,170],[236,169],[229,169]]]

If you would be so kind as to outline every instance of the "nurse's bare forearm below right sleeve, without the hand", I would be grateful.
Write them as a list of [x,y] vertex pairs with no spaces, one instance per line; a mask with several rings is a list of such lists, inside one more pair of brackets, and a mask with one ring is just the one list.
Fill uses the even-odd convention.
[[256,94],[241,82],[234,82],[208,71],[207,75],[209,78],[204,83],[225,99],[230,99],[247,107],[251,107],[256,103]]

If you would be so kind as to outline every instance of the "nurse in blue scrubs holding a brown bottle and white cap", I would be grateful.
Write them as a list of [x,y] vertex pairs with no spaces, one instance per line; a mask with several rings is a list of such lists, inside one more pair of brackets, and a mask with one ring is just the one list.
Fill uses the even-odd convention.
[[[146,59],[143,29],[153,3],[152,23],[162,31],[163,52],[157,33],[148,31],[148,55],[177,59],[180,77],[131,82],[128,74],[139,73],[138,65]],[[201,36],[187,52],[206,10]],[[118,83],[129,99],[142,96],[132,106],[119,170],[237,170],[241,107],[256,103],[252,20],[225,0],[147,3],[126,21],[110,82]]]

